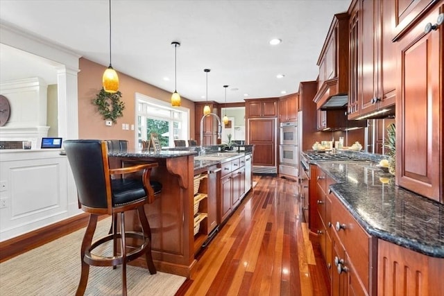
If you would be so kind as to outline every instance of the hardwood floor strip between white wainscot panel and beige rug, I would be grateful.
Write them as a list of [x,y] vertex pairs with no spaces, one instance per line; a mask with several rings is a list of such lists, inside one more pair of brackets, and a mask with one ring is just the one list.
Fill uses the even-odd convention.
[[[99,219],[106,217],[106,215],[103,215]],[[81,213],[21,236],[10,238],[7,241],[2,241],[0,242],[0,263],[86,227],[88,219],[88,213]]]

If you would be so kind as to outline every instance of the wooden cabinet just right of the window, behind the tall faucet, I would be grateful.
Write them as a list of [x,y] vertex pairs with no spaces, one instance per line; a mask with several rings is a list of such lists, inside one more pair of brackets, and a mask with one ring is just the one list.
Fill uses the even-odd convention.
[[[194,137],[200,145],[200,120],[203,117],[203,107],[209,105],[211,112],[218,114],[219,104],[213,101],[210,102],[200,102],[194,104],[194,110],[196,112],[196,118],[194,121],[194,130],[196,131]],[[219,123],[214,116],[206,116],[203,119],[203,146],[216,145],[217,144],[217,132],[219,130]]]

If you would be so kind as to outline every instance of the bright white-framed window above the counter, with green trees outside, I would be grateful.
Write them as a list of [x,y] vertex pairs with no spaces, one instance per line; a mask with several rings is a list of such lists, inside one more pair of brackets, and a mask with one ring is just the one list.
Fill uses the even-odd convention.
[[174,140],[189,139],[189,109],[171,107],[169,103],[135,95],[137,134],[136,143],[142,148],[142,141],[150,139],[151,132],[159,135],[160,146],[174,147]]

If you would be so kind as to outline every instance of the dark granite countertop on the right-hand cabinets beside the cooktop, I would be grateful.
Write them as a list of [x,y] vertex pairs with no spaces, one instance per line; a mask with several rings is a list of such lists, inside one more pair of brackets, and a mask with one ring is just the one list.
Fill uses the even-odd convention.
[[444,258],[444,204],[395,186],[372,162],[318,162],[337,183],[330,189],[368,234]]

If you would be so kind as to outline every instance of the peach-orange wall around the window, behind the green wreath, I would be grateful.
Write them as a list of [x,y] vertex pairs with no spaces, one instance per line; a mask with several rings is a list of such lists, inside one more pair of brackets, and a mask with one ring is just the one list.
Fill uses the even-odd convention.
[[[119,74],[119,91],[121,100],[125,102],[123,117],[117,119],[117,123],[106,126],[102,116],[97,112],[92,100],[100,92],[102,87],[102,75],[106,67],[96,64],[85,58],[79,60],[80,72],[78,73],[78,137],[79,139],[122,139],[129,141],[129,147],[135,146],[135,130],[131,130],[131,124],[135,124],[134,98],[135,93],[151,96],[161,101],[169,102],[171,93],[163,89],[148,85],[145,82]],[[116,69],[117,70],[117,69]],[[189,132],[194,135],[194,102],[182,97],[182,107],[189,108]],[[122,130],[122,123],[128,123],[130,130]],[[191,136],[190,136],[191,137]]]

